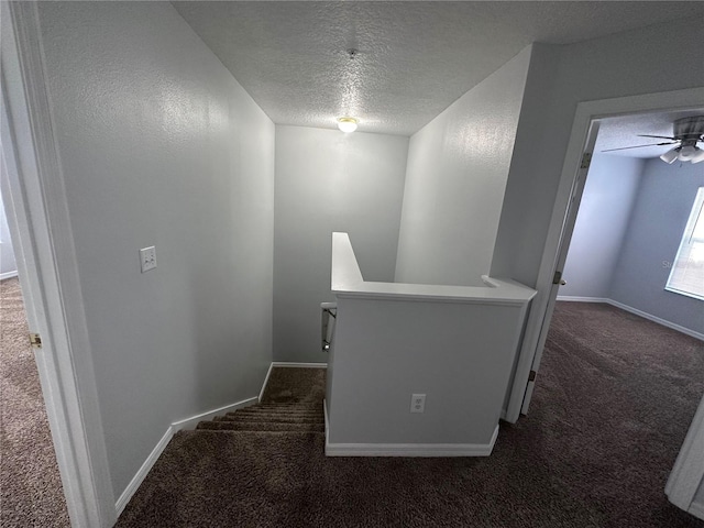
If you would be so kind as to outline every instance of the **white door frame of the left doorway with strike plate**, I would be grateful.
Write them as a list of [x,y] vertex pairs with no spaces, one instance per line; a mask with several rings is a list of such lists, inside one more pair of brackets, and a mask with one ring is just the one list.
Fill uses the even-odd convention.
[[73,527],[117,520],[35,2],[0,2],[2,198]]

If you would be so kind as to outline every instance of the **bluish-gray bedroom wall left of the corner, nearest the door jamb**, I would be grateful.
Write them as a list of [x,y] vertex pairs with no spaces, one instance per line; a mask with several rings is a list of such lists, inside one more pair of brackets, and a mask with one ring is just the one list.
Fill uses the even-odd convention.
[[561,296],[608,298],[642,167],[644,160],[594,155],[564,263],[568,284],[560,287]]

